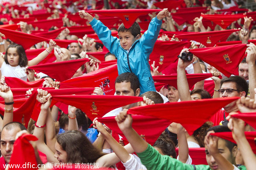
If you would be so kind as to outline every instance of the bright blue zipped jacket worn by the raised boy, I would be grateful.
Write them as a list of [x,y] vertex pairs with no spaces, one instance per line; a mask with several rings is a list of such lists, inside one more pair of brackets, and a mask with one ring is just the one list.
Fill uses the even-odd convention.
[[116,56],[118,74],[133,72],[140,81],[140,94],[156,91],[148,60],[158,37],[162,20],[153,18],[148,30],[132,44],[129,52],[121,47],[120,40],[113,37],[108,27],[104,26],[100,20],[93,18],[90,24],[104,46]]

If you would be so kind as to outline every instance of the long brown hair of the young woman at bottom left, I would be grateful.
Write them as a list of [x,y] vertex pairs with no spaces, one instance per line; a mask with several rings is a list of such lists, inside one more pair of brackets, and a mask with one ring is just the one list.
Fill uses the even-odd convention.
[[94,163],[106,153],[95,148],[89,139],[78,130],[70,130],[57,136],[57,142],[67,152],[68,163]]

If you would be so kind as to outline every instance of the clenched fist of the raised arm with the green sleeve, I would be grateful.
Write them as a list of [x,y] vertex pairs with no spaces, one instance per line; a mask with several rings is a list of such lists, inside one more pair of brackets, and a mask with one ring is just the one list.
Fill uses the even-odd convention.
[[128,109],[124,109],[115,117],[119,129],[122,131],[132,128],[132,116],[127,115],[127,111]]

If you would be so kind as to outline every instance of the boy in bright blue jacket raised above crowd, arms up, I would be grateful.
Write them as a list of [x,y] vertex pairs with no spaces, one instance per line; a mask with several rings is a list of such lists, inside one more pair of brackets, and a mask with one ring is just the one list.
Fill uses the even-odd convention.
[[102,22],[93,18],[92,15],[85,11],[79,11],[79,16],[90,22],[92,29],[104,46],[117,57],[118,74],[133,72],[139,78],[141,94],[148,91],[156,91],[148,60],[158,37],[162,19],[168,16],[168,14],[167,8],[160,11],[151,20],[148,30],[141,38],[140,26],[137,22],[134,22],[128,29],[122,23],[117,30],[118,39],[111,35],[111,31]]

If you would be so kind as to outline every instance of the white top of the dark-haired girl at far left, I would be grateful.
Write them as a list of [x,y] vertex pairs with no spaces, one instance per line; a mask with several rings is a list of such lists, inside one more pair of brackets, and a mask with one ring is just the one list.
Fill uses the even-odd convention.
[[27,74],[25,73],[25,67],[20,67],[20,65],[16,67],[12,67],[10,64],[6,64],[3,62],[1,67],[1,73],[4,77],[16,77],[21,80],[27,81]]

